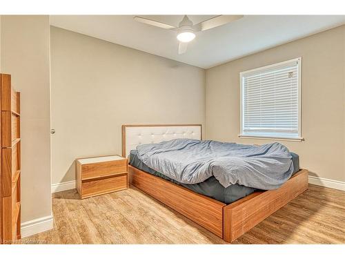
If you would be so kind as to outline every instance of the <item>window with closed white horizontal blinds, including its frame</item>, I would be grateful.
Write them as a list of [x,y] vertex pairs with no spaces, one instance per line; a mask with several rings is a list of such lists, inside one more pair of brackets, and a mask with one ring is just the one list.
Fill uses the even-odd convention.
[[301,66],[299,57],[239,74],[239,137],[302,140]]

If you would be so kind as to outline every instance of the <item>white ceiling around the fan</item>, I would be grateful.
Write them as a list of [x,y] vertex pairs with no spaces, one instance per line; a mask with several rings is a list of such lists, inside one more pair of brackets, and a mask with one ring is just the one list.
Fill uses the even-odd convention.
[[[141,15],[177,26],[183,15]],[[214,15],[188,15],[199,23]],[[345,23],[345,15],[245,15],[204,32],[178,55],[176,32],[139,23],[133,15],[52,15],[50,24],[99,39],[210,68]]]

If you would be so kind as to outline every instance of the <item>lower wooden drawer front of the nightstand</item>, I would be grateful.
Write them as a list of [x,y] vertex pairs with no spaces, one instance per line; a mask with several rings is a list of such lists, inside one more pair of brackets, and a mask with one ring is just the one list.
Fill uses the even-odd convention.
[[128,173],[110,176],[96,180],[86,180],[81,183],[83,198],[128,188]]

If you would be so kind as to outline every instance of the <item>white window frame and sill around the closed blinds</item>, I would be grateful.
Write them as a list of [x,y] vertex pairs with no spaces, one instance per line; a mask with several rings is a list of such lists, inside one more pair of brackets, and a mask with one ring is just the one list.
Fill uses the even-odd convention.
[[[248,75],[249,73],[255,73],[257,71],[263,71],[268,70],[274,67],[283,66],[284,64],[291,63],[293,61],[296,61],[298,64],[298,137],[277,137],[277,136],[260,136],[260,135],[244,135],[243,128],[244,128],[244,108],[243,108],[243,98],[244,98],[244,76]],[[290,59],[287,61],[279,62],[276,64],[268,65],[268,66],[262,66],[260,68],[254,68],[251,70],[246,70],[241,73],[239,73],[239,87],[240,87],[240,105],[239,105],[239,117],[240,117],[240,133],[239,137],[242,138],[249,138],[249,139],[264,139],[264,140],[287,140],[287,141],[295,141],[295,142],[301,142],[304,140],[302,137],[302,57],[297,57],[295,59]]]

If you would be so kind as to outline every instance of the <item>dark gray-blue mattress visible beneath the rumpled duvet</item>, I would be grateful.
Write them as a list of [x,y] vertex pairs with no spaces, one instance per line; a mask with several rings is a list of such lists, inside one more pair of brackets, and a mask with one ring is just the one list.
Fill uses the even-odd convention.
[[[293,173],[296,173],[297,171],[299,171],[299,157],[295,153],[291,153],[291,156],[293,157]],[[140,169],[141,171],[150,173],[151,175],[158,176],[160,178],[173,182],[174,184],[184,186],[185,188],[190,189],[191,191],[195,191],[196,193],[206,195],[210,198],[219,200],[220,202],[224,202],[226,204],[235,202],[236,200],[244,198],[246,197],[246,195],[249,195],[254,191],[258,191],[257,189],[239,184],[232,184],[225,188],[218,182],[218,180],[214,176],[198,184],[181,184],[180,182],[172,180],[168,178],[166,175],[163,175],[155,171],[154,169],[151,169],[150,167],[146,166],[146,164],[144,164],[137,157],[136,150],[130,151],[130,165],[136,167],[137,169]]]

